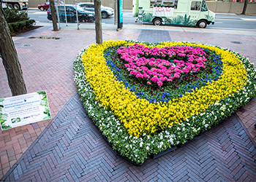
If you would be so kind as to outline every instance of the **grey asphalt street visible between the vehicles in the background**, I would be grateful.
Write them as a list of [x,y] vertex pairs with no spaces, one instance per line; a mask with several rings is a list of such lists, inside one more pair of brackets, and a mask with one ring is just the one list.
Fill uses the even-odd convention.
[[[28,10],[28,14],[39,23],[51,23],[46,11],[33,8]],[[132,10],[124,10],[124,24],[136,24],[135,19],[136,17],[132,17]],[[102,19],[102,23],[114,24],[114,16]],[[256,31],[256,16],[217,14],[214,25],[207,25],[207,28]]]

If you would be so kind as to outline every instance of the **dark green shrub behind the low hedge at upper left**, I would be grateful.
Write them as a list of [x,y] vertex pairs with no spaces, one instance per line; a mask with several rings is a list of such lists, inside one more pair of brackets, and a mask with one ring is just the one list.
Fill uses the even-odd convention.
[[7,23],[29,20],[28,12],[19,11],[18,9],[4,9],[4,17]]

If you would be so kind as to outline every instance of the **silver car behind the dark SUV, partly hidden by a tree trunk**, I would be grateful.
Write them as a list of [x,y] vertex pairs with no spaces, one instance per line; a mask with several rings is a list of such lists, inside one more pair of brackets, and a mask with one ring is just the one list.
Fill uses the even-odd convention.
[[[78,3],[78,6],[83,7],[83,9],[85,9],[86,11],[94,12],[94,3],[81,2],[81,3]],[[102,18],[107,18],[114,15],[114,9],[110,7],[101,6],[101,11],[102,11]]]

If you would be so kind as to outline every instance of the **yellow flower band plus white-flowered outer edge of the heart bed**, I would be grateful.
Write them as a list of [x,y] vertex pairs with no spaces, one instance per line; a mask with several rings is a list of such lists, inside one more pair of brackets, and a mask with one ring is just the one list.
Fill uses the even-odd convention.
[[[221,55],[222,75],[220,79],[207,82],[204,87],[196,89],[195,92],[186,92],[181,98],[173,98],[165,103],[149,103],[146,99],[138,98],[134,92],[124,86],[123,82],[118,81],[103,57],[103,52],[108,47],[132,44],[135,43],[110,40],[100,45],[91,45],[78,56],[84,68],[83,71],[75,71],[75,73],[80,73],[75,74],[75,82],[77,82],[78,92],[89,115],[97,121],[103,135],[108,135],[109,141],[113,143],[113,149],[136,163],[143,162],[148,154],[157,154],[167,147],[193,138],[202,130],[202,126],[203,130],[210,128],[214,122],[207,122],[208,120],[223,119],[222,115],[227,116],[233,111],[234,106],[229,103],[230,100],[235,100],[243,106],[250,98],[255,97],[255,69],[252,63],[238,53],[206,44],[162,42],[157,45],[144,45],[159,48],[201,47],[214,51],[216,55]],[[137,44],[143,43],[137,42]],[[248,65],[247,68],[245,65]],[[86,90],[85,87],[80,87],[79,82],[79,77],[83,74],[86,84],[89,85]],[[88,90],[91,91],[89,96]],[[86,101],[92,97],[91,94],[94,95],[93,101],[97,104]],[[240,98],[239,94],[242,95]],[[103,109],[100,112],[105,116],[99,112],[97,116],[90,114],[91,110],[97,113],[95,109]],[[197,126],[198,122],[200,124]],[[157,128],[160,128],[162,132],[156,134],[155,132],[159,132]],[[170,133],[173,130],[175,132]],[[123,132],[123,135],[128,133],[128,135],[118,136],[118,132]]]

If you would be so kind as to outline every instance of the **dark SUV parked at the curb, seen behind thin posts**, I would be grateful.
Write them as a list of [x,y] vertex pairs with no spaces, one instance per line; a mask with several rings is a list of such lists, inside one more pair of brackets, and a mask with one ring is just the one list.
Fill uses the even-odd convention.
[[[67,13],[67,22],[69,23],[75,23],[77,20],[76,8],[78,10],[78,21],[80,23],[94,22],[95,20],[94,12],[85,11],[83,8],[79,6],[71,5],[71,4],[66,4],[65,7],[66,7],[66,13]],[[64,5],[58,6],[58,12],[59,12],[60,22],[64,23],[65,22]],[[47,18],[48,20],[53,20],[51,16],[50,8],[48,9],[48,12],[47,12]]]

